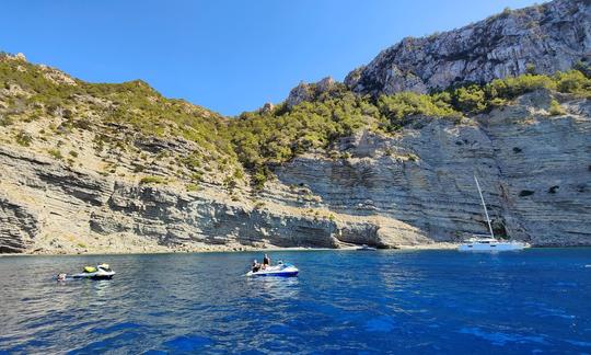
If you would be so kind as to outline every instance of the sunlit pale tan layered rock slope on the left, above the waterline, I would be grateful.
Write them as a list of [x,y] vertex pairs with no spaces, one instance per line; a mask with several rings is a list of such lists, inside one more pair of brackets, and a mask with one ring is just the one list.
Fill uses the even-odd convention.
[[213,186],[187,193],[125,183],[22,149],[1,148],[0,165],[1,252],[335,248],[337,236],[373,228],[232,201]]

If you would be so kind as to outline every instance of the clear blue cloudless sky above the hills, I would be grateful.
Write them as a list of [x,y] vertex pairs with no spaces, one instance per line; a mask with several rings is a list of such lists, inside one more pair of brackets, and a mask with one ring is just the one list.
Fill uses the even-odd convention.
[[529,0],[3,0],[0,50],[233,115]]

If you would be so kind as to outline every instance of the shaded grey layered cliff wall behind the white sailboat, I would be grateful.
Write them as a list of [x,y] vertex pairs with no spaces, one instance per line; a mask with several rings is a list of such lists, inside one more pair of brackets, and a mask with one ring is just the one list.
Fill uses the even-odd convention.
[[436,241],[485,233],[476,174],[497,233],[588,245],[591,105],[566,101],[568,114],[551,116],[549,102],[540,91],[475,121],[424,118],[394,138],[359,134],[341,140],[352,158],[300,157],[279,169],[279,180],[309,186],[340,214],[413,226],[376,225],[385,243],[405,244],[420,240],[416,230]]

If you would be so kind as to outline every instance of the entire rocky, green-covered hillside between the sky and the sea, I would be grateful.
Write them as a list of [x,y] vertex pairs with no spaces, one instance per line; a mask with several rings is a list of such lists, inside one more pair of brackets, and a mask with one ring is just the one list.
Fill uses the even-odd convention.
[[[452,34],[483,36],[537,13],[548,36],[569,41],[571,27],[556,23],[576,22],[568,48],[535,64],[523,57],[517,71],[486,73],[497,59],[480,58],[478,79],[462,71],[429,90],[360,85],[381,70],[368,68],[427,62],[430,45],[409,59],[397,51],[403,41],[358,71],[369,79],[302,83],[286,102],[239,117],[140,80],[89,83],[0,55],[0,252],[456,242],[486,231],[473,174],[498,233],[590,245],[588,12],[588,1],[556,0],[417,39],[460,46]],[[530,56],[513,50],[513,27],[496,48]],[[452,57],[428,62],[448,71]]]

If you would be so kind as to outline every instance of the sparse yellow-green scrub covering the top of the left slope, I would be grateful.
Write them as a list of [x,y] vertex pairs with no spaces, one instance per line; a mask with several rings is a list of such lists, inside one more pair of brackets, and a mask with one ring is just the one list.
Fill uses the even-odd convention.
[[[92,133],[96,154],[106,164],[101,172],[104,174],[124,173],[117,170],[120,160],[117,156],[121,151],[131,159],[130,171],[138,179],[166,167],[171,175],[199,183],[205,175],[242,169],[225,136],[227,118],[217,113],[183,100],[166,99],[140,80],[89,83],[0,54],[0,125],[11,126],[16,122],[38,122],[43,129],[33,135],[22,131],[22,125],[15,125],[13,137],[4,138],[12,138],[21,146],[51,142],[54,147],[44,150],[56,159],[60,159],[55,153],[59,151],[56,141],[62,142],[58,137],[66,138],[74,129]],[[190,142],[186,147],[194,148],[182,153],[165,151],[166,146],[157,147],[155,151],[142,150],[136,139],[150,136],[184,139]],[[150,167],[155,171],[150,171]]]

